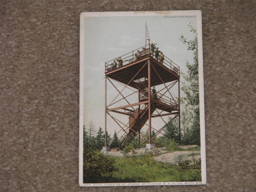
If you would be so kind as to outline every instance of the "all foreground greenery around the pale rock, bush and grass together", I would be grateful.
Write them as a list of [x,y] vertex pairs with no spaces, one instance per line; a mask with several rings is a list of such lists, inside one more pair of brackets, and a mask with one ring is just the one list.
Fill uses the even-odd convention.
[[[200,147],[182,149],[170,144],[173,151],[200,151]],[[84,183],[201,181],[201,161],[179,161],[178,165],[157,162],[153,155],[114,157],[100,151],[84,151]]]

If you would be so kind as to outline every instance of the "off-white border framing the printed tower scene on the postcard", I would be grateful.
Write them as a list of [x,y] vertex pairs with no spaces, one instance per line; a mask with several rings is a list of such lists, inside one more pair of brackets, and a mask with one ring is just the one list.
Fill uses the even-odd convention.
[[[84,119],[84,19],[86,17],[118,16],[179,16],[196,15],[198,37],[198,73],[199,73],[199,108],[201,140],[201,175],[202,181],[193,182],[147,182],[147,183],[83,183],[83,119]],[[203,38],[202,12],[193,11],[137,11],[137,12],[82,12],[80,14],[80,87],[79,87],[79,186],[152,186],[152,185],[204,185],[206,184],[205,124],[204,124],[204,72],[203,72]]]

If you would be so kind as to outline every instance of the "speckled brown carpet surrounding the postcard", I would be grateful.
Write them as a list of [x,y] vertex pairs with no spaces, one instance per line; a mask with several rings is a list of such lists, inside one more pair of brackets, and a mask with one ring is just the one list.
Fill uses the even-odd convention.
[[[256,191],[256,1],[1,1],[1,191]],[[78,186],[79,15],[202,10],[207,185]]]

